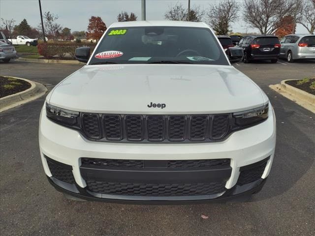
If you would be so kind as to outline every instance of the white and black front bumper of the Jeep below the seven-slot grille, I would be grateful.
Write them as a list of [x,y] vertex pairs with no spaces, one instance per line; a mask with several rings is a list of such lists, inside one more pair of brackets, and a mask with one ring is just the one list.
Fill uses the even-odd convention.
[[[41,159],[44,171],[56,189],[87,200],[163,204],[191,201],[229,201],[232,198],[249,197],[261,189],[265,182],[264,179],[269,175],[274,157],[276,125],[271,105],[269,109],[270,115],[267,120],[253,127],[237,131],[226,140],[218,143],[121,144],[88,141],[77,131],[65,128],[46,118],[44,107],[39,126]],[[139,169],[115,169],[104,168],[104,166],[87,167],[81,163],[82,159],[87,157],[97,160],[143,160],[145,163],[149,163],[149,169],[139,171]],[[161,165],[160,162],[169,160],[213,159],[228,159],[229,165],[214,168],[182,168],[175,171],[166,169],[165,166],[159,166]],[[56,178],[55,173],[57,172],[51,169],[51,163],[54,162],[59,167],[66,169],[73,181],[62,181],[62,178]],[[257,168],[259,169],[258,172]],[[253,172],[249,173],[248,170],[250,172],[254,170],[254,174]],[[251,182],[244,182],[241,177],[245,175],[244,173],[247,173],[247,177],[254,175],[255,178],[252,178]],[[106,182],[105,185],[104,182]],[[189,182],[189,186],[180,185],[187,182]],[[185,192],[187,188],[191,188],[191,185],[205,182],[210,182],[210,186],[215,189],[214,193],[204,192],[202,185],[201,190],[198,188],[196,190],[192,186],[194,191],[199,191],[196,195],[165,195],[165,191],[171,191],[170,189],[175,185],[177,190],[180,189]],[[161,183],[164,185],[161,186]],[[212,183],[219,183],[220,186]],[[223,186],[221,186],[222,183]],[[109,184],[112,185],[109,186]],[[126,184],[133,184],[133,188],[137,188],[137,194],[106,192],[108,189],[114,191],[113,188],[115,191],[117,189],[122,191]],[[106,187],[105,192],[104,186]],[[147,195],[147,190],[141,192],[148,186],[151,188],[150,194]],[[164,194],[156,196],[154,191],[161,188],[163,188]]]

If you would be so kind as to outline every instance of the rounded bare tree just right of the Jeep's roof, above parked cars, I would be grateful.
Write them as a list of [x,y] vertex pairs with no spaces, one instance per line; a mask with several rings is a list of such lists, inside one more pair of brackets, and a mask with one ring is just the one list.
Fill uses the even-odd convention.
[[225,35],[229,32],[231,23],[239,18],[238,12],[239,6],[235,0],[220,1],[210,5],[208,23],[218,34]]

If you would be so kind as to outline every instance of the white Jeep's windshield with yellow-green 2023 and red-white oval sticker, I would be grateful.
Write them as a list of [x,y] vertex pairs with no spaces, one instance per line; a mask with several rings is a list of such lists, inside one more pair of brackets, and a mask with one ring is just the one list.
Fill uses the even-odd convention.
[[229,64],[213,33],[196,27],[111,28],[89,64],[103,63]]

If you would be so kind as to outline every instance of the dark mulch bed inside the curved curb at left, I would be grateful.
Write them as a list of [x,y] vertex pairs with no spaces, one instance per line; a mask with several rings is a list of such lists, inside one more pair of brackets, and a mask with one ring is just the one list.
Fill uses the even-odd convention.
[[31,88],[31,84],[10,77],[0,76],[0,97],[5,97]]

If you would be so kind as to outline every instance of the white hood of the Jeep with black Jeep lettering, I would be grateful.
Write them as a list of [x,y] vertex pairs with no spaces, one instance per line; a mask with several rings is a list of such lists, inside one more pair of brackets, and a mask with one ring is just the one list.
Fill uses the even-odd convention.
[[[231,65],[86,65],[47,96],[73,111],[120,114],[211,114],[263,106],[266,95]],[[152,103],[165,107],[151,107]]]

